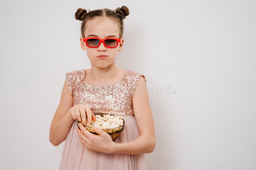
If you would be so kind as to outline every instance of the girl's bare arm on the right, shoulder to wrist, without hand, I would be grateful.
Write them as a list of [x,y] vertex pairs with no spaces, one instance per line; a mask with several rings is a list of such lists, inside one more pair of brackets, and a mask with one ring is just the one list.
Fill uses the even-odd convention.
[[140,136],[126,143],[113,143],[112,153],[142,154],[153,152],[156,146],[155,127],[149,105],[145,80],[140,76],[132,97],[134,116]]

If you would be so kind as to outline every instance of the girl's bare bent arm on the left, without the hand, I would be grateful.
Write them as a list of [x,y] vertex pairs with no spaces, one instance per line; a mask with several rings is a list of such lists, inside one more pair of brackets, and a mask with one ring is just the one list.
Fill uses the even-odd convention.
[[61,92],[61,98],[59,106],[52,119],[50,128],[49,140],[52,145],[57,146],[63,142],[67,136],[70,128],[74,122],[71,114],[68,114],[68,110],[73,106],[73,97],[68,89],[67,79],[64,82]]

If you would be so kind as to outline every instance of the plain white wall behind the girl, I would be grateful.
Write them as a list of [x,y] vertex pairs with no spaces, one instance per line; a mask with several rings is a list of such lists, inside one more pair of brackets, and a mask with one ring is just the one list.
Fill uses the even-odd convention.
[[149,76],[149,89],[172,86],[149,92],[157,141],[148,170],[256,169],[249,0],[1,1],[0,169],[59,168],[64,142],[53,146],[49,130],[65,73],[90,68],[75,12],[122,5],[130,15],[116,65]]

